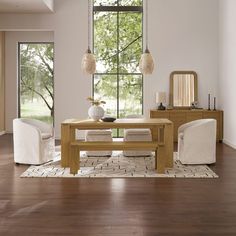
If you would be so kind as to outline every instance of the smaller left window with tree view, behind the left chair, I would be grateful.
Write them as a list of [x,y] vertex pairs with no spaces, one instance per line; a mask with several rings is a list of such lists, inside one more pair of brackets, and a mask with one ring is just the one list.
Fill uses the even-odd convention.
[[19,115],[53,123],[53,44],[20,43]]

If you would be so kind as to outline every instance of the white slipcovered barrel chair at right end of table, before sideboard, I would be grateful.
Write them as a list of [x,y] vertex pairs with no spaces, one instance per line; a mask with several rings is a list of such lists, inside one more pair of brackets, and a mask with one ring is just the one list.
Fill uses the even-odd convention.
[[178,158],[182,164],[216,162],[216,120],[200,119],[178,129]]

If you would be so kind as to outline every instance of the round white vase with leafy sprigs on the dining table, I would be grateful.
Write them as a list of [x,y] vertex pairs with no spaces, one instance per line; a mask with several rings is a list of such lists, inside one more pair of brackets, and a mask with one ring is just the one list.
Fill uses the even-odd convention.
[[106,104],[106,102],[100,99],[94,99],[93,97],[88,97],[87,100],[92,104],[92,106],[88,110],[89,117],[94,121],[99,121],[105,113],[104,109],[100,105]]

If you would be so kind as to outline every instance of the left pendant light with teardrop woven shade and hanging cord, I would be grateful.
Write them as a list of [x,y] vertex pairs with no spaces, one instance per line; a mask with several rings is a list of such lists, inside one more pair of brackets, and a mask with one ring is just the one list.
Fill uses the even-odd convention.
[[96,59],[90,49],[91,45],[90,28],[91,28],[91,0],[88,0],[88,49],[83,55],[81,63],[82,71],[85,74],[94,74],[96,71]]

